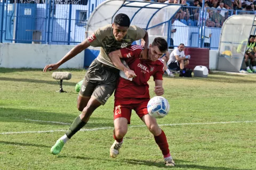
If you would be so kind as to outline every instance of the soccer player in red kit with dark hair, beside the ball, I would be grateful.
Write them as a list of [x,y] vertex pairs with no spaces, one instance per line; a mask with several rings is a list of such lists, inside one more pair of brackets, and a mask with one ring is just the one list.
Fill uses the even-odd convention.
[[[161,96],[163,89],[163,67],[162,60],[158,60],[167,50],[168,45],[165,39],[157,37],[149,45],[148,58],[140,59],[142,46],[133,45],[109,53],[113,64],[113,56],[119,56],[127,63],[131,70],[137,75],[132,81],[119,78],[115,90],[114,107],[114,138],[115,142],[110,148],[110,156],[115,158],[119,154],[119,149],[123,143],[123,137],[130,124],[132,109],[141,120],[147,125],[149,131],[154,135],[155,141],[162,151],[166,166],[174,166],[174,161],[170,155],[169,146],[164,131],[159,128],[156,118],[148,114],[147,104],[150,99],[149,84],[150,76],[153,75],[155,81],[155,94]],[[117,65],[116,65],[117,66]]]

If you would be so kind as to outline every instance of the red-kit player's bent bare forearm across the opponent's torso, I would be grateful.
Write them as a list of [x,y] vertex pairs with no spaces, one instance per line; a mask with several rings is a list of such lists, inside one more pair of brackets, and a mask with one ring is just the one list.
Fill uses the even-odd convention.
[[119,69],[122,70],[127,78],[135,78],[137,75],[134,73],[133,70],[128,69],[124,66],[124,64],[121,62],[120,58],[122,57],[121,50],[115,50],[114,52],[111,52],[108,54],[111,62]]

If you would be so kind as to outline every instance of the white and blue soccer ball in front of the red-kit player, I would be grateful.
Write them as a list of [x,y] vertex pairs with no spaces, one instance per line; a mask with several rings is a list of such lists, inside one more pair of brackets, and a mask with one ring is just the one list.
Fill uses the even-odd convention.
[[169,102],[162,96],[156,96],[148,101],[148,113],[156,118],[163,118],[170,110]]

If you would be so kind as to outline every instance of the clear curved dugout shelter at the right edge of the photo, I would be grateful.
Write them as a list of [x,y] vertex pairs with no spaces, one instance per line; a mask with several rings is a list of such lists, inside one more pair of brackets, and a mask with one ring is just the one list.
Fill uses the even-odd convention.
[[[255,35],[255,15],[233,15],[222,25],[219,43],[219,60],[217,70],[239,72],[243,64],[245,48],[242,53],[237,52],[237,47],[243,40],[249,40],[250,35]],[[244,44],[247,45],[247,41]],[[225,50],[230,50],[230,57],[221,55]]]

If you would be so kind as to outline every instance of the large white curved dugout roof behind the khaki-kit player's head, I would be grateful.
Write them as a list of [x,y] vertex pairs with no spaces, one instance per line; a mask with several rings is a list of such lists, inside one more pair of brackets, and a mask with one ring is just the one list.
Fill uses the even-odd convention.
[[113,23],[115,16],[125,13],[131,25],[146,29],[151,36],[169,36],[173,16],[182,6],[177,4],[144,1],[110,0],[101,3],[91,14],[86,25],[87,35],[94,30]]

